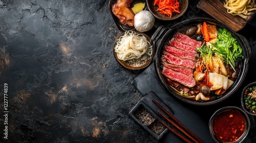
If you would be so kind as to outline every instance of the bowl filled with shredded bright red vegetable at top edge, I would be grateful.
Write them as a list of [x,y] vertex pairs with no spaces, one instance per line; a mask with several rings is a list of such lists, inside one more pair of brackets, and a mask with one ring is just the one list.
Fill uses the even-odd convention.
[[188,0],[147,0],[150,12],[160,20],[174,20],[184,14]]

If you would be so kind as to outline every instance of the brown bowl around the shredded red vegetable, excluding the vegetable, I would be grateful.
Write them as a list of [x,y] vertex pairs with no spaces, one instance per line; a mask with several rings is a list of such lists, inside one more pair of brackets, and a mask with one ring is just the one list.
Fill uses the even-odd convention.
[[155,0],[147,0],[147,8],[148,10],[150,10],[150,12],[159,20],[163,20],[163,21],[168,21],[168,20],[174,20],[179,18],[180,16],[182,16],[187,8],[188,8],[188,0],[179,0],[180,3],[180,13],[174,12],[172,17],[169,17],[167,15],[164,15],[162,13],[160,13],[159,11],[157,11],[158,6],[154,6],[154,2]]

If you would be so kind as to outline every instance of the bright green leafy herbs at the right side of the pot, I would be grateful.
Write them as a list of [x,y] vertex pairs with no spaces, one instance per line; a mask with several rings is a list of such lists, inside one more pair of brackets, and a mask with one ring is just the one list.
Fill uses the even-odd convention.
[[[218,39],[216,43],[212,43],[216,47],[216,51],[222,56],[227,64],[234,69],[234,62],[238,59],[244,59],[242,48],[236,38],[232,37],[226,29],[218,30]],[[236,70],[234,70],[236,71]]]

